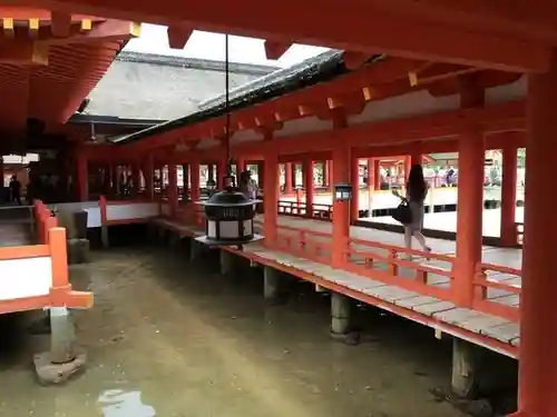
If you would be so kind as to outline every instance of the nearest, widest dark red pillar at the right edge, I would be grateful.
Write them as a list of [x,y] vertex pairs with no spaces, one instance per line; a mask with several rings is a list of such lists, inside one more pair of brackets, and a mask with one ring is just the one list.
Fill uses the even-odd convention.
[[[520,417],[557,414],[557,315],[555,312],[555,170],[557,57],[550,71],[528,79],[525,239],[520,297]],[[548,157],[549,156],[549,157]],[[550,239],[550,240],[548,240]]]

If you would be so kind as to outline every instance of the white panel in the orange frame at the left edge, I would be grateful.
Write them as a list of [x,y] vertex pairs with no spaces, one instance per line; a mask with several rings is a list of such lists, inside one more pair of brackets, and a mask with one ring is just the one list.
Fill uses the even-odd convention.
[[0,300],[45,296],[51,284],[50,257],[0,260]]

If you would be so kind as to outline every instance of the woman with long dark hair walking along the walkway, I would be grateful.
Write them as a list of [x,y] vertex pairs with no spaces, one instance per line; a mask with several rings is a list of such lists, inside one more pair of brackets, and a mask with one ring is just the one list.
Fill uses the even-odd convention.
[[[402,198],[398,190],[393,190],[392,193],[399,198]],[[430,252],[431,248],[426,244],[426,237],[421,232],[423,228],[423,216],[426,209],[423,207],[423,201],[428,195],[428,185],[423,178],[423,170],[421,165],[414,165],[410,169],[410,175],[408,176],[407,182],[407,197],[410,211],[412,214],[412,221],[404,225],[404,245],[408,249],[412,248],[412,236],[421,245],[423,251]]]

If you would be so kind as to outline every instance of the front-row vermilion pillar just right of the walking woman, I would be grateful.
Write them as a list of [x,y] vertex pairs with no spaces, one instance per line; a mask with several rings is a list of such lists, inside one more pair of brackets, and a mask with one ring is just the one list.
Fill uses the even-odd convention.
[[[470,86],[460,100],[463,108],[481,106],[483,91]],[[470,126],[459,138],[457,257],[451,285],[453,299],[462,307],[472,305],[475,268],[481,261],[485,156],[483,132],[480,127]]]

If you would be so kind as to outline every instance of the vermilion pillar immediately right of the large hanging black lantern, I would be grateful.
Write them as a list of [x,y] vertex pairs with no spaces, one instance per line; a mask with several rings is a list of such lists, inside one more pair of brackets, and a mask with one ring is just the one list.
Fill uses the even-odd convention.
[[[263,167],[265,169],[265,172],[263,172],[263,210],[265,212],[263,235],[265,236],[265,245],[272,247],[276,241],[277,227],[276,197],[278,181],[276,178],[278,177],[278,156],[276,150],[271,149],[265,153],[265,163]],[[257,169],[260,168],[261,165],[257,165]]]

